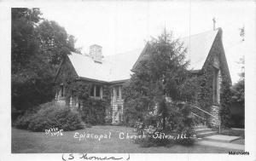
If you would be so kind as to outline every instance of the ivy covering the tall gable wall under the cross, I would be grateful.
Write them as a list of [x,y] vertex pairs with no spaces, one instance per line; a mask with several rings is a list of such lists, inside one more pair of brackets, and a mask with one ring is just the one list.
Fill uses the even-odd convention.
[[[191,82],[191,87],[198,87],[194,88],[196,92],[195,96],[192,97],[193,100],[195,99],[194,101],[196,101],[196,103],[207,112],[211,112],[212,105],[220,106],[219,114],[221,118],[221,123],[224,127],[227,127],[229,126],[230,120],[230,79],[228,69],[226,68],[226,66],[224,66],[225,60],[222,52],[224,52],[224,49],[221,43],[221,36],[217,35],[214,43],[212,44],[212,49],[210,51],[211,54],[208,56],[203,69],[201,70],[201,72],[197,73],[196,76],[191,75],[188,79]],[[212,100],[212,81],[214,77],[214,67],[212,66],[212,62],[214,61],[214,58],[218,58],[219,60],[219,70],[222,78],[222,82],[220,84],[219,103],[213,102]],[[185,89],[188,88],[189,86],[187,86]],[[207,120],[209,120],[209,116],[205,113],[204,118],[207,118]],[[210,125],[209,123],[207,124]]]

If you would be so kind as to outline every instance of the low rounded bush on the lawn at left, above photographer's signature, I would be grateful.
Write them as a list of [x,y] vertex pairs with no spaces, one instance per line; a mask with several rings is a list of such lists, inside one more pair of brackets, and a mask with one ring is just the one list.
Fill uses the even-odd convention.
[[32,131],[44,131],[50,128],[68,131],[83,129],[84,123],[79,113],[71,111],[68,106],[54,106],[51,104],[48,107],[41,108],[36,113],[26,113],[16,120],[15,126]]

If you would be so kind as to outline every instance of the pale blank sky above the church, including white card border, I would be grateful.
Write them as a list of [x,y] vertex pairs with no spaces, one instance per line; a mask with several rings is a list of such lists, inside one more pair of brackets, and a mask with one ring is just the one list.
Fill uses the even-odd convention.
[[[243,55],[255,51],[255,3],[230,1],[90,1],[61,3],[41,8],[43,17],[64,26],[77,39],[76,47],[89,53],[91,44],[102,46],[103,55],[115,55],[143,48],[151,37],[157,37],[166,27],[174,37],[187,37],[223,29],[225,55],[232,83],[239,80]],[[245,27],[245,41],[241,42],[239,28]]]

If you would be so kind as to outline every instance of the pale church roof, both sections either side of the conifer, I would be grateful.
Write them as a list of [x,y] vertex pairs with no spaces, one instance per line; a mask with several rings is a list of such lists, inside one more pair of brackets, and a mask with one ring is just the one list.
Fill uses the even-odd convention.
[[[202,32],[190,37],[180,38],[184,47],[187,47],[187,59],[190,60],[189,70],[201,70],[217,32],[218,30]],[[68,55],[68,58],[80,78],[115,82],[131,78],[131,69],[142,52],[143,48],[118,55],[108,55],[102,59],[102,63],[95,62],[90,56],[76,53]]]

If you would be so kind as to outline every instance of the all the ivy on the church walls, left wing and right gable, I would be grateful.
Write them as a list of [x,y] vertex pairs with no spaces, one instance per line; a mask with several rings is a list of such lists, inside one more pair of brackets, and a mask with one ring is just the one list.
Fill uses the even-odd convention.
[[[211,54],[207,57],[205,65],[201,72],[196,74],[189,75],[189,78],[186,80],[186,84],[183,87],[184,98],[189,101],[195,101],[202,109],[207,112],[210,112],[210,108],[214,102],[212,102],[212,80],[213,80],[213,66],[212,62],[214,58],[219,58],[220,65],[223,65],[225,62],[221,52],[223,46],[221,44],[221,37],[217,35],[214,43],[212,44]],[[228,126],[230,119],[230,83],[228,76],[228,69],[226,66],[220,66],[222,83],[220,89],[220,117],[222,125]],[[80,113],[83,115],[84,121],[90,124],[103,123],[103,118],[106,116],[106,109],[111,111],[110,108],[110,89],[108,85],[103,87],[103,100],[96,100],[90,98],[90,88],[91,82],[84,82],[77,79],[77,74],[71,65],[71,62],[67,59],[66,63],[61,66],[61,72],[58,75],[57,80],[55,81],[55,92],[59,90],[60,83],[63,83],[64,87],[67,90],[67,103],[69,103],[69,98],[71,95],[73,97],[79,98],[83,101],[83,109],[79,109]],[[125,88],[124,88],[125,89]],[[129,93],[129,90],[124,90],[125,94]],[[136,103],[136,95],[139,94],[130,94],[131,97],[134,97],[133,103]],[[127,96],[127,95],[126,95]],[[132,103],[132,102],[130,102]],[[137,105],[140,106],[140,105]],[[127,102],[125,102],[125,119],[127,116],[132,115],[131,118],[139,118],[142,113],[136,113]],[[208,115],[204,116],[209,118]],[[129,117],[128,117],[129,118]],[[127,121],[127,120],[125,120]]]

